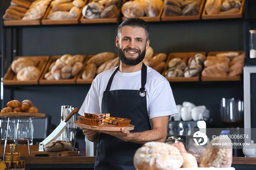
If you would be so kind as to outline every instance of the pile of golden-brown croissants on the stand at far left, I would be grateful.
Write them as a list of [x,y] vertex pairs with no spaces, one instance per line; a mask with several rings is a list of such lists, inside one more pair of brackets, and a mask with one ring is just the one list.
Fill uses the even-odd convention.
[[27,112],[27,113],[38,113],[38,109],[33,106],[33,103],[26,99],[21,103],[19,100],[11,100],[6,104],[7,107],[1,110],[1,113],[19,113],[19,112]]

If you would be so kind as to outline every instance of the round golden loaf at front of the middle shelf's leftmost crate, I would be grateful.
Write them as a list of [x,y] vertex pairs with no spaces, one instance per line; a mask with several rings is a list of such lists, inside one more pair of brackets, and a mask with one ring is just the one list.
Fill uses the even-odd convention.
[[39,76],[39,69],[35,66],[27,66],[23,69],[19,70],[17,73],[17,80],[25,81],[25,80],[33,80]]

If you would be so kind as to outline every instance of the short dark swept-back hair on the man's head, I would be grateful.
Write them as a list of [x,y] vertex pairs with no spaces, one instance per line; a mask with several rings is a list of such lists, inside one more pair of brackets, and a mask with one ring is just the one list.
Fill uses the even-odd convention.
[[[125,19],[117,28],[117,37],[121,31],[121,29],[124,26],[129,26],[129,27],[141,27],[144,28],[146,35],[147,35],[147,40],[149,39],[149,26],[146,23],[146,21],[144,21],[143,19],[140,18],[127,18]],[[119,37],[118,37],[119,38]]]

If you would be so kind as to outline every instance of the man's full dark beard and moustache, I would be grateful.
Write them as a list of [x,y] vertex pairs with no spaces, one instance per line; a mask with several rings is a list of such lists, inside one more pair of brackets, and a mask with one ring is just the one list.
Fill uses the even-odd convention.
[[[139,53],[139,55],[136,58],[127,58],[125,56],[126,50],[137,51]],[[124,50],[122,50],[120,47],[118,47],[118,55],[119,55],[121,62],[128,66],[135,66],[135,65],[139,64],[140,62],[142,62],[142,60],[145,57],[145,54],[146,54],[146,46],[142,52],[138,49],[125,48]]]

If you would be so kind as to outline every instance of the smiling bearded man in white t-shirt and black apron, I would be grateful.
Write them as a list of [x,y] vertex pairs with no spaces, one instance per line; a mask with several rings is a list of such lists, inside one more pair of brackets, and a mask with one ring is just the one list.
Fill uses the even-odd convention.
[[142,62],[149,46],[149,26],[139,18],[128,18],[117,30],[120,66],[98,74],[79,114],[110,113],[131,119],[134,130],[94,131],[82,129],[97,142],[95,169],[135,169],[133,155],[142,144],[165,142],[171,115],[178,113],[169,82]]

